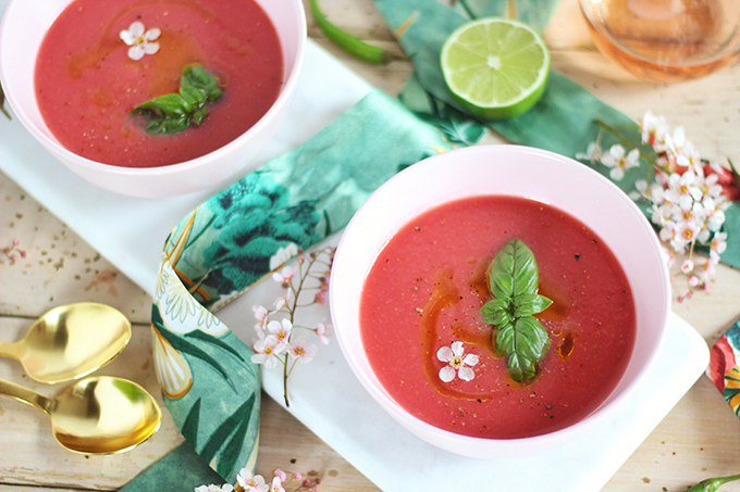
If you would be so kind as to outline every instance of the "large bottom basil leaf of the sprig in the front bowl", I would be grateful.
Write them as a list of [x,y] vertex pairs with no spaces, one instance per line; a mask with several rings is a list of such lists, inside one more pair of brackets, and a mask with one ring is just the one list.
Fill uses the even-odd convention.
[[536,363],[550,348],[550,336],[535,317],[525,316],[498,326],[495,342],[496,350],[508,356],[511,378],[521,382],[535,376]]

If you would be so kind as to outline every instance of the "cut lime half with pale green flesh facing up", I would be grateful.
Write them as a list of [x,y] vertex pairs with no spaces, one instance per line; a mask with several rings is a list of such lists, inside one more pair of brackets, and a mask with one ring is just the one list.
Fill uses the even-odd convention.
[[442,47],[442,73],[455,99],[473,116],[507,119],[542,97],[550,51],[527,24],[485,17],[455,29]]

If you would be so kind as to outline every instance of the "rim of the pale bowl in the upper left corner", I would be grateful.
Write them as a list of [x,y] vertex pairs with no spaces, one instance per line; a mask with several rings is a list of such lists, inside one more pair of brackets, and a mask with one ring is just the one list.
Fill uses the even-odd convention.
[[[55,13],[53,16],[53,20],[55,20],[61,12],[66,9],[72,2],[75,0],[65,0],[64,1],[64,7],[62,7],[59,12]],[[268,0],[255,0],[258,5],[266,11],[263,3]],[[53,149],[53,152],[57,153],[60,159],[65,160],[65,161],[74,161],[75,166],[78,166],[87,172],[103,172],[108,175],[111,175],[112,177],[115,176],[121,176],[121,177],[158,177],[158,176],[168,176],[172,174],[180,174],[187,172],[189,169],[198,168],[203,165],[207,165],[209,162],[213,160],[218,160],[222,155],[227,155],[235,150],[237,150],[245,140],[251,140],[254,138],[255,134],[258,134],[259,131],[262,130],[263,127],[268,127],[271,123],[271,121],[280,115],[280,113],[283,111],[284,106],[286,106],[289,103],[291,97],[293,92],[295,91],[295,88],[298,84],[298,78],[300,76],[300,71],[304,64],[304,60],[306,58],[306,45],[307,45],[307,35],[308,35],[308,27],[307,27],[307,20],[306,20],[306,9],[304,7],[303,1],[300,0],[287,0],[289,1],[294,8],[295,8],[295,14],[297,15],[296,23],[298,27],[298,33],[296,34],[296,39],[297,43],[295,46],[295,59],[293,60],[292,64],[284,64],[284,73],[283,73],[283,84],[281,86],[280,93],[278,94],[278,98],[273,102],[273,104],[270,106],[270,109],[262,115],[262,117],[257,121],[247,131],[245,131],[243,135],[239,137],[235,138],[234,140],[230,141],[229,143],[220,147],[219,149],[209,152],[208,154],[201,155],[199,157],[190,159],[188,161],[180,162],[180,163],[174,163],[174,164],[169,164],[164,166],[156,166],[156,167],[124,167],[124,166],[116,166],[112,164],[106,164],[102,162],[97,162],[92,161],[87,157],[83,157],[82,155],[78,155],[69,149],[66,149],[64,146],[62,146],[55,138],[49,137],[47,134],[45,134],[41,129],[38,128],[38,126],[32,121],[32,118],[27,115],[26,111],[24,108],[17,102],[16,93],[14,86],[8,86],[7,83],[3,84],[3,90],[5,93],[5,99],[8,101],[8,104],[11,106],[13,110],[13,113],[16,115],[21,124],[26,128],[27,131],[29,131],[37,140],[41,142],[41,144],[46,149]],[[25,0],[10,0],[8,2],[8,5],[5,7],[5,11],[2,15],[2,20],[0,21],[0,39],[2,39],[5,35],[4,33],[8,30],[7,25],[10,24],[11,22],[11,15],[13,10],[15,9],[16,4],[26,4],[27,2]],[[270,17],[270,20],[275,23],[275,21],[270,16],[270,14],[267,13],[266,15]],[[53,22],[52,20],[52,22]],[[48,29],[48,27],[47,27]],[[285,45],[284,45],[284,39],[282,36],[280,36],[280,33],[278,34],[280,42],[281,42],[281,48],[283,51],[283,61],[285,62]],[[38,52],[33,53],[34,60],[38,55]],[[9,77],[7,76],[8,73],[12,70],[11,66],[8,66],[7,63],[3,62],[3,56],[2,52],[0,51],[0,79],[2,80],[8,80]],[[13,80],[13,77],[10,77],[10,80]]]

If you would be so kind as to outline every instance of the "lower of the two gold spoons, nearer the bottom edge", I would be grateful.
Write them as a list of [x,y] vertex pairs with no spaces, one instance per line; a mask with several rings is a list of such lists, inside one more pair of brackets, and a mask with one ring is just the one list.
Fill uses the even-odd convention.
[[55,399],[0,380],[0,394],[46,412],[54,439],[82,454],[128,451],[157,432],[162,421],[157,401],[144,388],[110,376],[83,379]]

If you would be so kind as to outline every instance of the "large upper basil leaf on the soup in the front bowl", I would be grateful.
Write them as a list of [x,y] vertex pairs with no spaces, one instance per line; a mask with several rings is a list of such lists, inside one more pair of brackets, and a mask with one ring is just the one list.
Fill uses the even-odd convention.
[[489,270],[489,289],[495,298],[536,293],[539,282],[534,253],[521,239],[511,239],[498,250]]

